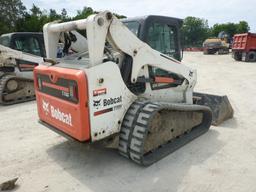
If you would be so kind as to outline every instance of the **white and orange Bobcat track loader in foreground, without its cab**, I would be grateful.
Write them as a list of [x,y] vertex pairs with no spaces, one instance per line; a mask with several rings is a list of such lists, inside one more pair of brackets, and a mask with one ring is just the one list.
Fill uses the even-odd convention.
[[[59,35],[71,30],[86,30],[88,49],[56,59]],[[148,166],[207,132],[213,118],[233,115],[222,97],[193,96],[196,70],[152,49],[108,11],[43,31],[48,62],[34,70],[39,122],[64,136]]]

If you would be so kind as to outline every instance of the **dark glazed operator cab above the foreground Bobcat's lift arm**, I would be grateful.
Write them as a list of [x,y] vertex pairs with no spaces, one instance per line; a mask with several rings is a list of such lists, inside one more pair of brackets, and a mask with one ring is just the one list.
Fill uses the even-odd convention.
[[123,19],[122,22],[151,48],[181,61],[182,19],[149,15]]

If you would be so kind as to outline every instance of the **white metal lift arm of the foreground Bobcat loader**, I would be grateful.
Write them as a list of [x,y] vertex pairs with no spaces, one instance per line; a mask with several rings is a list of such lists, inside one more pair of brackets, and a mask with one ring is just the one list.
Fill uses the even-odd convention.
[[131,82],[135,83],[140,70],[148,65],[175,73],[187,80],[188,91],[196,83],[196,71],[179,61],[164,55],[139,40],[121,21],[109,11],[91,15],[87,19],[66,23],[48,23],[44,26],[47,57],[56,57],[56,46],[61,32],[86,30],[90,66],[103,62],[105,42],[114,49],[133,58]]

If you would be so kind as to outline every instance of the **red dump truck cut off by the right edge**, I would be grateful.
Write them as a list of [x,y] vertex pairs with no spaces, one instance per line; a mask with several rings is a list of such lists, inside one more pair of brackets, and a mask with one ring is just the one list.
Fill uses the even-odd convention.
[[256,33],[234,35],[232,56],[236,61],[256,61]]

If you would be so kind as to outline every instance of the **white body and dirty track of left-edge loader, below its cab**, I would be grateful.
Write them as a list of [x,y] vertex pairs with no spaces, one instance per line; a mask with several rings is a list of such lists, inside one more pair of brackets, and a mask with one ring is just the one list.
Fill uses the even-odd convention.
[[43,57],[0,45],[0,104],[35,99],[33,69]]

